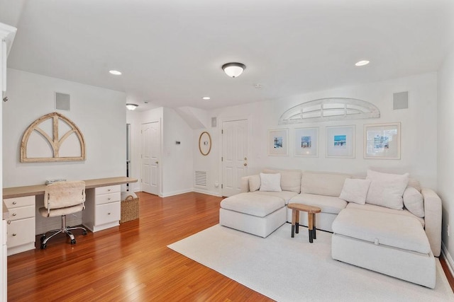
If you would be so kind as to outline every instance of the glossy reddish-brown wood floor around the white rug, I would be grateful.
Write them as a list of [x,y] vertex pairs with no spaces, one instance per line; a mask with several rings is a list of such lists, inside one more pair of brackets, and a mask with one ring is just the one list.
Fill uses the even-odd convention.
[[218,223],[220,197],[138,196],[138,220],[9,256],[8,301],[272,301],[167,248]]

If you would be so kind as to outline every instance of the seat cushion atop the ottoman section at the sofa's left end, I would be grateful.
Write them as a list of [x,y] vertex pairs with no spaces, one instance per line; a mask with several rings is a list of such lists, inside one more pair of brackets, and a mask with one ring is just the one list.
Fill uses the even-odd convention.
[[265,217],[285,207],[284,199],[254,193],[240,193],[221,201],[221,208],[258,217]]

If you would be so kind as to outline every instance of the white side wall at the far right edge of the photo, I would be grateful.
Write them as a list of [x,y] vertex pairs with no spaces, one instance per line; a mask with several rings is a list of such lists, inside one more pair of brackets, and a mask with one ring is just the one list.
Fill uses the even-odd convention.
[[451,267],[454,267],[454,240],[448,236],[453,232],[454,217],[454,50],[448,54],[438,71],[438,194],[443,202],[443,251],[448,253]]

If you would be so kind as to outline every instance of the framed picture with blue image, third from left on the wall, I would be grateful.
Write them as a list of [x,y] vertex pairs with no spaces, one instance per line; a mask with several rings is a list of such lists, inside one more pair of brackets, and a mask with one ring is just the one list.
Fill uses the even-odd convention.
[[355,158],[355,125],[326,127],[326,157]]

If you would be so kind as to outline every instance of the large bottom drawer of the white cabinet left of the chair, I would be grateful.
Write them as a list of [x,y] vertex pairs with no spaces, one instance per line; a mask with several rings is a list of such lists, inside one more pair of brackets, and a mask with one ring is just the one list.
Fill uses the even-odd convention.
[[35,242],[35,217],[11,221],[8,224],[8,248],[32,242]]

